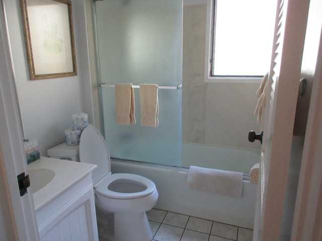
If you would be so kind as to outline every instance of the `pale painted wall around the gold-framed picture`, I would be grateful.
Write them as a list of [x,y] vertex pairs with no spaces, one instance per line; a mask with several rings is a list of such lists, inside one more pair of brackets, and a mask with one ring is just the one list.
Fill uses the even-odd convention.
[[72,1],[77,76],[30,80],[19,0],[3,0],[25,138],[36,138],[40,155],[64,142],[71,115],[94,122],[85,1]]

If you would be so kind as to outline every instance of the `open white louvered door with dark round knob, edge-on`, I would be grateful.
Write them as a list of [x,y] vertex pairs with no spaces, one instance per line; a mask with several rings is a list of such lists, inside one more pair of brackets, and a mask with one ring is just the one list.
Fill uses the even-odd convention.
[[266,99],[254,240],[280,240],[308,0],[279,0]]

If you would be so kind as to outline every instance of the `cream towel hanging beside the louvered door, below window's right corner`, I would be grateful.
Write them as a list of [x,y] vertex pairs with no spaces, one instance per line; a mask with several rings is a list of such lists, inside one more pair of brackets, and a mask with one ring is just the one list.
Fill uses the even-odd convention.
[[264,75],[261,85],[256,92],[256,96],[259,97],[254,114],[257,118],[257,123],[260,125],[261,130],[264,129],[264,121],[262,115],[264,113],[264,108],[266,106],[266,93],[268,89],[268,73]]

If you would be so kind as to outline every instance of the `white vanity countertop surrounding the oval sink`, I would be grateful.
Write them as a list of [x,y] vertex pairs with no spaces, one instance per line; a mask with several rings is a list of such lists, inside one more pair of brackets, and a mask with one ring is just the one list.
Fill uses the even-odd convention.
[[[37,211],[55,197],[75,185],[91,173],[97,166],[87,163],[65,161],[60,159],[40,157],[28,165],[28,170],[49,169],[54,171],[53,179],[43,188],[33,193],[34,206]],[[30,190],[30,187],[28,188]]]

